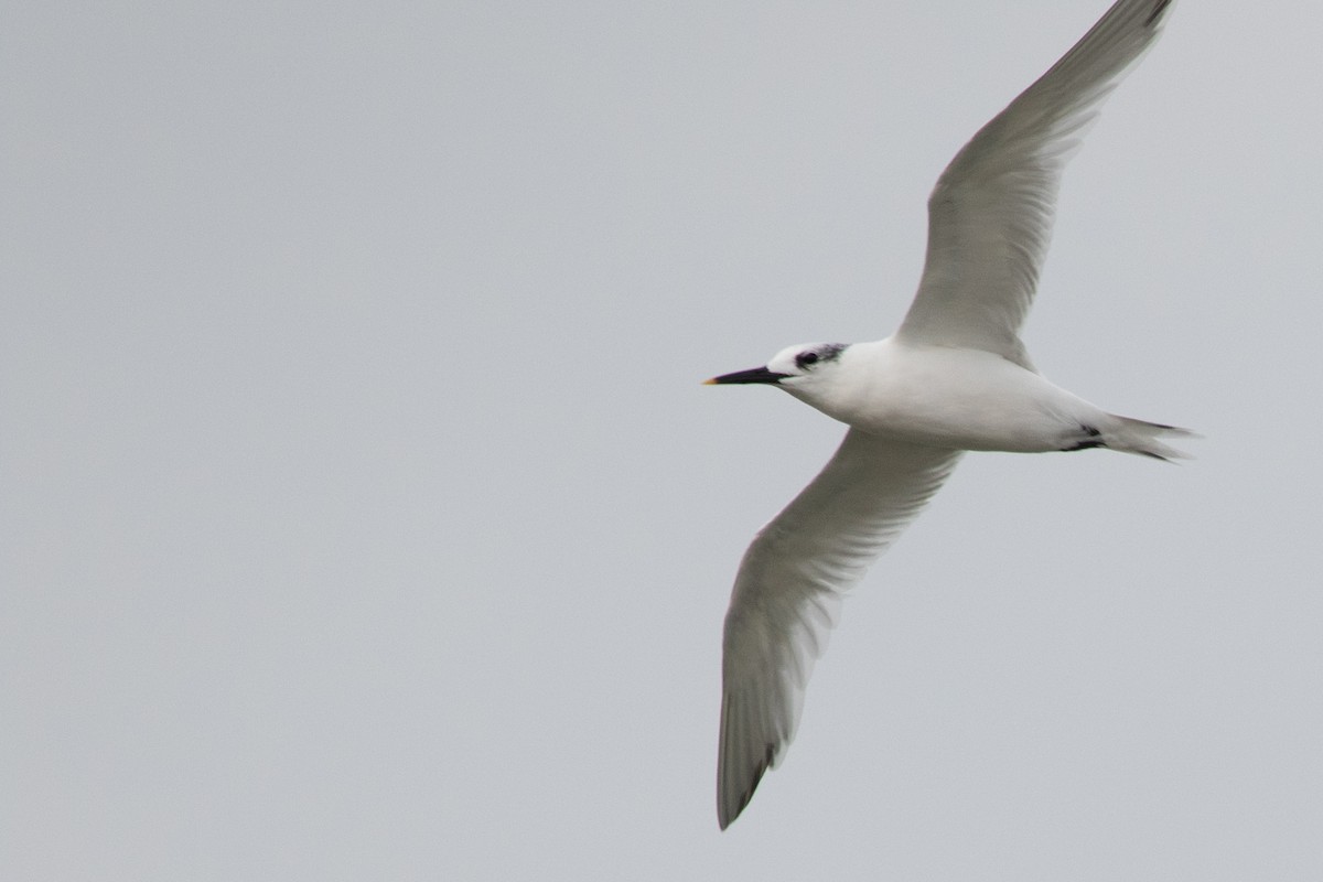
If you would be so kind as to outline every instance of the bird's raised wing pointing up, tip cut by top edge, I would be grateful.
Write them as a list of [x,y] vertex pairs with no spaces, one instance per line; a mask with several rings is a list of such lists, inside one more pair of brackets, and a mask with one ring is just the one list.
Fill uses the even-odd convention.
[[955,155],[927,202],[927,258],[898,337],[984,349],[1032,369],[1019,331],[1052,235],[1061,169],[1152,45],[1171,0],[1118,0]]

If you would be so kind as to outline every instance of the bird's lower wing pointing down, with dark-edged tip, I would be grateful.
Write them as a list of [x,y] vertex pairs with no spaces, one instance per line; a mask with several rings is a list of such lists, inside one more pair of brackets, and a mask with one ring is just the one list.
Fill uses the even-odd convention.
[[960,451],[851,428],[745,551],[726,612],[717,820],[725,829],[795,734],[843,592],[918,516]]

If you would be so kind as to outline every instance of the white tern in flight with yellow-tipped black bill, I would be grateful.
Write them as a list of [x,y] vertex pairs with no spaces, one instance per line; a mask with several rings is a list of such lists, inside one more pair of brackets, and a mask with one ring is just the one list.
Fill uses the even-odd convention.
[[1048,250],[1061,171],[1152,45],[1171,0],[1118,0],[955,155],[927,202],[927,257],[900,329],[808,344],[709,383],[771,383],[849,426],[822,473],[745,551],[726,612],[717,820],[725,829],[795,734],[843,592],[967,450],[1106,447],[1184,456],[1191,432],[1106,413],[1033,368],[1019,331]]

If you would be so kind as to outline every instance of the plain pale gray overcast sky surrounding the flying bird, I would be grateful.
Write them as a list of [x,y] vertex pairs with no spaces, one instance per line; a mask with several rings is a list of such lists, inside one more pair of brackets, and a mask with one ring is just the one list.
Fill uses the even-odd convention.
[[1103,0],[0,5],[0,877],[1323,878],[1323,8],[1185,0],[717,832],[720,639],[925,200]]

